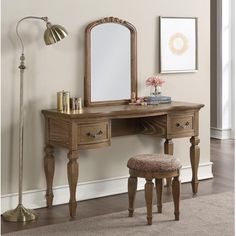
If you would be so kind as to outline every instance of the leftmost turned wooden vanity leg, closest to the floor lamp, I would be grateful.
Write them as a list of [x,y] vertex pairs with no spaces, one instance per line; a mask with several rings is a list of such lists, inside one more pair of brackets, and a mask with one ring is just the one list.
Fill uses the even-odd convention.
[[46,145],[44,151],[45,151],[44,172],[47,182],[46,200],[47,200],[47,207],[52,207],[52,201],[53,201],[52,185],[53,185],[53,176],[55,170],[55,158],[53,156],[54,148],[52,145]]

